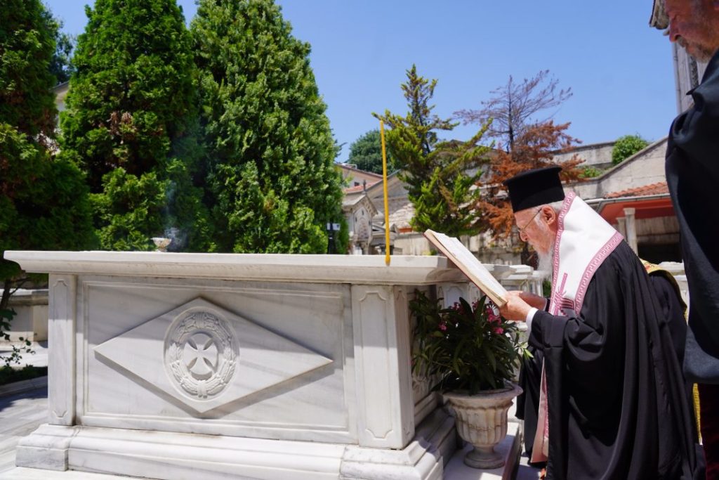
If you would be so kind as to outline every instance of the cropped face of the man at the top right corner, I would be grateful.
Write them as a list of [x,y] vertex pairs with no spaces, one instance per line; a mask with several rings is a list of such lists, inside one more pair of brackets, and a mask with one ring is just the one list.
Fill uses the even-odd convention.
[[669,40],[707,62],[719,49],[719,6],[713,0],[666,0]]

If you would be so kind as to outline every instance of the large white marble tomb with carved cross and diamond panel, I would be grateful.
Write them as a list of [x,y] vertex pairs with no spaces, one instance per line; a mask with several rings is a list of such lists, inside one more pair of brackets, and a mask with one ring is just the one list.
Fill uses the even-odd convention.
[[19,440],[20,467],[439,480],[456,450],[410,362],[414,289],[469,298],[446,258],[5,256],[50,273],[48,423]]

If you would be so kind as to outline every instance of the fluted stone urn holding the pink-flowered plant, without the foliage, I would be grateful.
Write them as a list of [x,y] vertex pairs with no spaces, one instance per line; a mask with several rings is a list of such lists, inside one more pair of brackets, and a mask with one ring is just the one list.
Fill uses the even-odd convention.
[[503,456],[494,448],[507,436],[507,411],[512,399],[521,393],[522,389],[515,384],[472,396],[456,391],[444,393],[445,402],[457,422],[457,433],[475,447],[464,456],[467,466],[499,468],[504,465]]

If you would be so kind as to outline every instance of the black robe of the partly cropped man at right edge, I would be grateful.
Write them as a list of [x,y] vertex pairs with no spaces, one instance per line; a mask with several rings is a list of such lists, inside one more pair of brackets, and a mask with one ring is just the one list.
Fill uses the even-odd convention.
[[684,371],[719,384],[719,52],[690,94],[694,106],[674,119],[665,165],[689,284]]

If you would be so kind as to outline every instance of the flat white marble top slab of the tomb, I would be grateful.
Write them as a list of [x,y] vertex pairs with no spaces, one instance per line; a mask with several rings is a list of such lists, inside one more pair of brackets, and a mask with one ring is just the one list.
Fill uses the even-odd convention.
[[56,252],[6,250],[4,258],[37,273],[173,276],[321,283],[433,284],[464,281],[439,255],[290,255],[255,253]]

